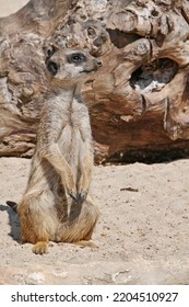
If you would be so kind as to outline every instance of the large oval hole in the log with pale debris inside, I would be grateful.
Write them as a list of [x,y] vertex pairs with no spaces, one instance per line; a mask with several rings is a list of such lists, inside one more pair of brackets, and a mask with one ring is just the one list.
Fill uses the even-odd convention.
[[178,71],[178,64],[169,58],[160,58],[140,66],[131,76],[130,86],[143,92],[161,91]]

